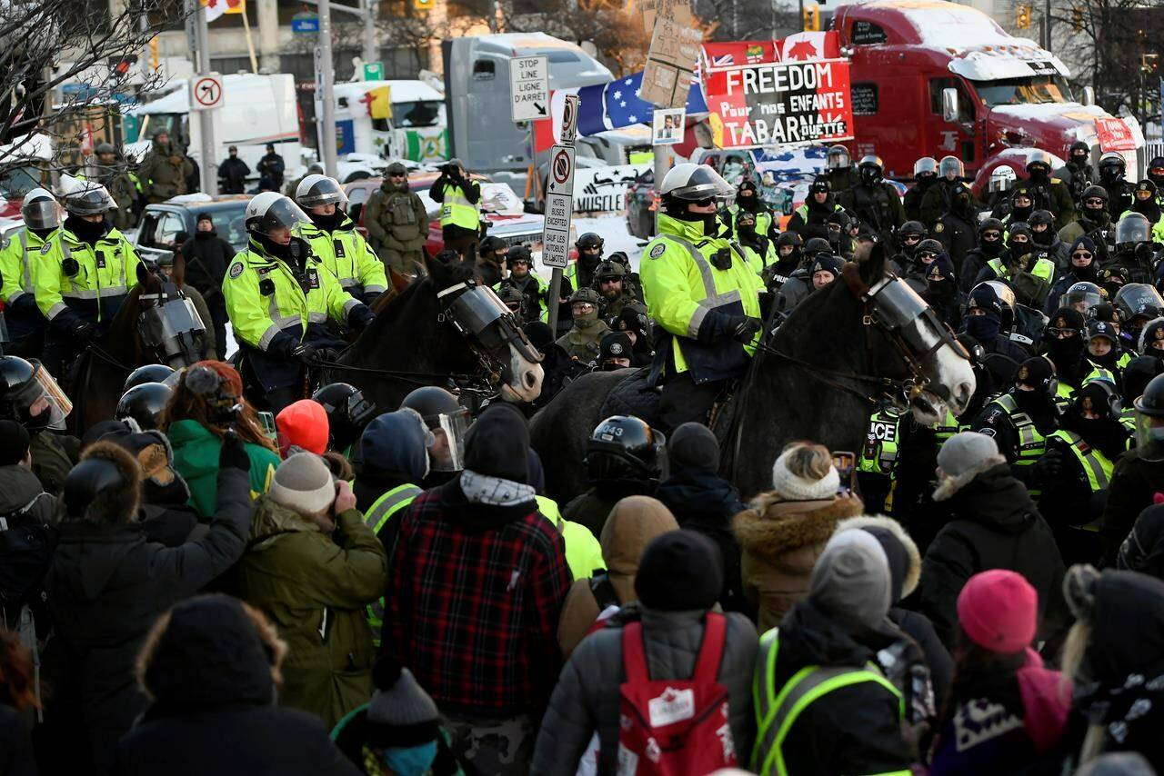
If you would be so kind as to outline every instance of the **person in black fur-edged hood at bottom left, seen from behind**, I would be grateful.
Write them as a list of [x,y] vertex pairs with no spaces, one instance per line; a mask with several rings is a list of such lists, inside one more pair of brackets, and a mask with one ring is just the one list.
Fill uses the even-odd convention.
[[121,739],[116,773],[357,774],[319,719],[277,705],[286,654],[270,621],[237,599],[175,605],[137,660],[151,704]]

